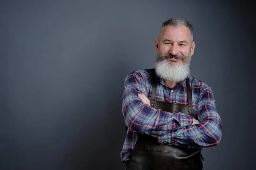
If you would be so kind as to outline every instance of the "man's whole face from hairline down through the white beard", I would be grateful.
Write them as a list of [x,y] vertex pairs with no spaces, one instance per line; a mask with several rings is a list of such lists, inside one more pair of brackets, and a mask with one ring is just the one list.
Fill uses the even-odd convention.
[[166,26],[156,39],[156,74],[162,79],[180,82],[190,72],[191,56],[195,42],[188,28]]

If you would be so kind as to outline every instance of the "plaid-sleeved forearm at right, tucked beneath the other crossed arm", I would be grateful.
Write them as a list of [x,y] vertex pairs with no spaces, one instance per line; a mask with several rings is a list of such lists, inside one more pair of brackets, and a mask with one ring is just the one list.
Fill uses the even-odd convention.
[[204,148],[217,145],[221,140],[221,118],[215,107],[205,105],[202,108],[204,118],[201,123],[160,135],[160,144],[167,143],[186,148]]

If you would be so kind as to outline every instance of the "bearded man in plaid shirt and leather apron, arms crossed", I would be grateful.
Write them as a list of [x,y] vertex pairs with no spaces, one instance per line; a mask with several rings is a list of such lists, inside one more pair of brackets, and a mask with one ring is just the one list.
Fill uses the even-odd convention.
[[127,170],[201,170],[201,149],[217,145],[222,132],[211,88],[189,76],[192,25],[180,18],[165,21],[155,50],[154,69],[125,78],[121,159]]

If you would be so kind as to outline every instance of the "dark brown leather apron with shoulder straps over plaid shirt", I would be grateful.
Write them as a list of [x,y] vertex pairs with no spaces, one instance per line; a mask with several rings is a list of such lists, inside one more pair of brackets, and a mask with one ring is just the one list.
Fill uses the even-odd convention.
[[[151,106],[167,112],[181,112],[193,116],[192,93],[186,78],[188,105],[156,101],[157,77],[152,71]],[[139,133],[126,170],[202,170],[201,149],[186,149],[167,144],[159,144],[157,138]]]

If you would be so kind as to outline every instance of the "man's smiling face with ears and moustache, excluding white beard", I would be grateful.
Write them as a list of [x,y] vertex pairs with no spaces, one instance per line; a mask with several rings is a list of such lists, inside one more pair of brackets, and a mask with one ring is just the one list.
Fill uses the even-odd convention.
[[165,59],[172,65],[186,62],[194,54],[194,49],[195,42],[185,26],[166,26],[156,39],[158,60]]

